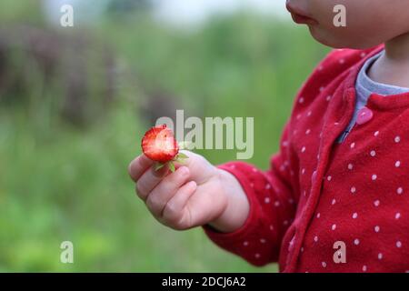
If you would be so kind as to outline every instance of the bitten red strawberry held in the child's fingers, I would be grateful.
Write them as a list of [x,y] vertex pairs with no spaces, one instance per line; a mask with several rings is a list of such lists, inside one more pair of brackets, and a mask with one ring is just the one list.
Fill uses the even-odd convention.
[[142,151],[155,162],[165,164],[179,153],[174,133],[166,125],[149,129],[142,138]]

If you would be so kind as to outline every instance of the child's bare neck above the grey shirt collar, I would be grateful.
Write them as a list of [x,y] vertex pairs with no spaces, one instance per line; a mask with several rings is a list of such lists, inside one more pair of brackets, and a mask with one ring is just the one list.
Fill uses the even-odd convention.
[[368,75],[375,82],[409,88],[409,33],[385,43],[385,53]]

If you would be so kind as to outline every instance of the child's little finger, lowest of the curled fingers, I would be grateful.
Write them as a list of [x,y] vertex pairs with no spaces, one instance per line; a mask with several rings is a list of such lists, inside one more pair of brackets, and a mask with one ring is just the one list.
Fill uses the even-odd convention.
[[[191,226],[191,219],[188,212],[184,213],[185,206],[189,198],[195,193],[197,184],[195,181],[186,183],[184,186],[177,190],[175,196],[173,196],[165,205],[162,219],[166,224],[174,226],[177,229],[185,229],[185,227]],[[184,223],[181,224],[182,221]]]

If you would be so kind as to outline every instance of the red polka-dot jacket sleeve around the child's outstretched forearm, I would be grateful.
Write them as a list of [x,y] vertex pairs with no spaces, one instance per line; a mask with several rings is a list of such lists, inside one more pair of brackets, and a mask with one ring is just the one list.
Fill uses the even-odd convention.
[[280,151],[272,157],[268,171],[244,162],[219,166],[237,178],[249,200],[250,212],[244,226],[233,233],[219,233],[204,226],[205,233],[216,245],[255,266],[278,260],[284,233],[294,218],[294,170],[290,168],[289,147],[287,125]]

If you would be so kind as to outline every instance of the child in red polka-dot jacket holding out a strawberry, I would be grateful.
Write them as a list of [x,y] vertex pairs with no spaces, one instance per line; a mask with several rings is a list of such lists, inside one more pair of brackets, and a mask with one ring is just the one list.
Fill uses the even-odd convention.
[[[333,23],[338,4],[346,27]],[[139,156],[129,167],[138,196],[165,226],[204,226],[256,266],[407,272],[409,1],[289,0],[287,8],[319,42],[353,49],[335,50],[307,80],[271,168],[214,167],[188,152],[167,174]]]

